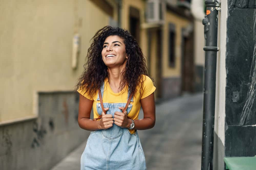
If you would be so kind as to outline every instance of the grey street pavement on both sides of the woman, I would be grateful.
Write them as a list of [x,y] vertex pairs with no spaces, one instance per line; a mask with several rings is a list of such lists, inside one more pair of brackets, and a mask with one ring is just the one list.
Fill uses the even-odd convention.
[[[156,104],[156,124],[139,130],[148,170],[201,168],[203,94],[183,95]],[[140,113],[140,119],[143,113]],[[51,170],[78,170],[86,141]]]

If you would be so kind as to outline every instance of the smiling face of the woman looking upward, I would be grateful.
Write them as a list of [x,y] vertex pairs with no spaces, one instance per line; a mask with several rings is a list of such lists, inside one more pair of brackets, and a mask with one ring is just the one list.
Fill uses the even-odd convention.
[[101,56],[108,67],[125,66],[128,57],[123,39],[117,35],[108,36],[104,41]]

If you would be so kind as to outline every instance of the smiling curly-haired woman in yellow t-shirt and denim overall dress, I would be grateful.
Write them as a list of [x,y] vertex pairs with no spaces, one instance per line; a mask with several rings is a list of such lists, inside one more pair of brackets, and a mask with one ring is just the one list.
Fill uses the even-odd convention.
[[[121,28],[106,26],[92,40],[77,84],[78,124],[92,131],[81,169],[146,169],[137,130],[155,125],[156,88],[147,76],[142,51]],[[144,118],[138,120],[140,107]]]

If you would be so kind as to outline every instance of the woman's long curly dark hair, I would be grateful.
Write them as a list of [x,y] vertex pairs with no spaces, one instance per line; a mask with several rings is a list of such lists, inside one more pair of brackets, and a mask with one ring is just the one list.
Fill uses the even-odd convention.
[[[91,46],[87,53],[87,62],[84,64],[84,72],[79,77],[76,85],[76,90],[82,88],[84,93],[93,98],[97,90],[104,82],[105,78],[109,76],[108,68],[104,64],[101,57],[103,43],[110,35],[117,35],[124,40],[126,47],[126,54],[128,60],[126,62],[125,70],[122,71],[121,87],[129,86],[131,94],[136,94],[138,91],[142,93],[142,75],[148,76],[148,69],[146,67],[146,60],[142,54],[141,48],[134,37],[127,31],[119,27],[105,26],[98,30],[91,40]],[[141,83],[142,81],[142,83]],[[139,86],[140,90],[137,90]]]

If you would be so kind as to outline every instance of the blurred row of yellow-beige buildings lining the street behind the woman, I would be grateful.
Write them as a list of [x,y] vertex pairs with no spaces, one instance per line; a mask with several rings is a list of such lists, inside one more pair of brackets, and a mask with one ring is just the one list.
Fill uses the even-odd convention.
[[201,0],[2,0],[1,169],[49,169],[86,139],[73,90],[105,25],[137,39],[157,100],[202,91],[203,16]]

